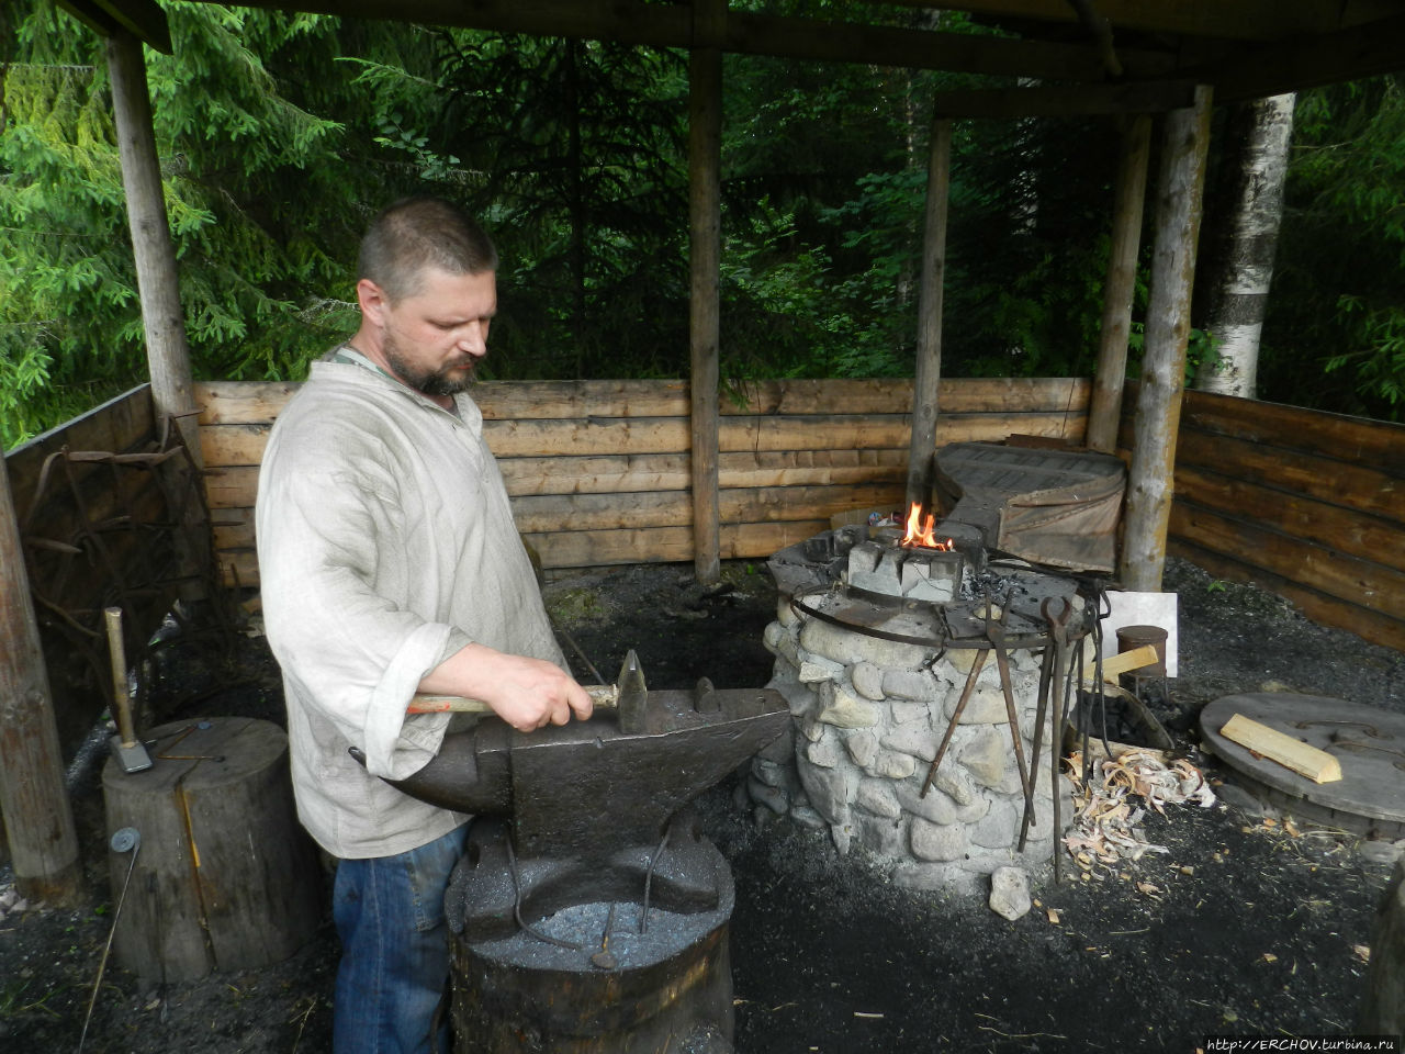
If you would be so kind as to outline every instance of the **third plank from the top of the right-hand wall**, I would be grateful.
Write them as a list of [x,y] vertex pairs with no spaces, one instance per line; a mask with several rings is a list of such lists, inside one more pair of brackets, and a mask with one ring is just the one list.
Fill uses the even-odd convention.
[[1349,557],[1405,571],[1405,524],[1316,502],[1270,486],[1234,479],[1220,472],[1176,467],[1176,500],[1252,520],[1308,542],[1328,542]]

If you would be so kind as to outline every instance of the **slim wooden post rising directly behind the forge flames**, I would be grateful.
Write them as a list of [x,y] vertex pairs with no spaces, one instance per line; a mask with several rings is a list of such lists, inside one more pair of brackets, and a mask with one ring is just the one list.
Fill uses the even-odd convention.
[[922,233],[922,292],[917,298],[917,375],[912,385],[908,448],[908,505],[932,506],[932,458],[937,445],[937,388],[941,384],[941,306],[947,270],[947,198],[951,188],[951,118],[932,122],[927,163],[927,219]]

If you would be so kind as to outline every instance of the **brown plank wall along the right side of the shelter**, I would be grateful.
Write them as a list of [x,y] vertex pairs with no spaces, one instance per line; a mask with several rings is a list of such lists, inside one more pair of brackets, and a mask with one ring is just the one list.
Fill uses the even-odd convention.
[[1405,649],[1402,538],[1405,426],[1186,392],[1170,552]]

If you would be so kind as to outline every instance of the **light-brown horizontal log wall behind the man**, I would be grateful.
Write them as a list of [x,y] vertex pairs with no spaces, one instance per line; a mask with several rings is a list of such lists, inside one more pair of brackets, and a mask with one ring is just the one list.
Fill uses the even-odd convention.
[[[215,545],[226,580],[257,585],[259,460],[291,384],[197,386]],[[545,568],[693,559],[683,381],[513,381],[473,391],[517,527]],[[1080,443],[1080,379],[946,379],[937,443],[1012,434]],[[724,559],[769,557],[856,507],[896,507],[912,381],[766,381],[722,399]]]

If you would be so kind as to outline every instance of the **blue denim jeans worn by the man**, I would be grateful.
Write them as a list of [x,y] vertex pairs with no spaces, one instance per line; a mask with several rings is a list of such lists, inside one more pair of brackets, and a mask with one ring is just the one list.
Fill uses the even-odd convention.
[[[448,985],[444,891],[468,828],[399,856],[341,860],[332,918],[341,937],[334,1054],[427,1054]],[[438,1036],[448,1051],[448,1015]]]

